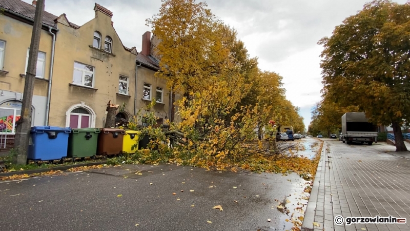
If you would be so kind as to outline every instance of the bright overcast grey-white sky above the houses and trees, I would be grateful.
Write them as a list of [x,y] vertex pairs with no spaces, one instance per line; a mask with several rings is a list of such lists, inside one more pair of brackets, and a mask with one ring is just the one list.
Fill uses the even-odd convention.
[[[24,0],[31,4],[31,0]],[[67,14],[79,26],[94,18],[94,3],[113,12],[114,28],[127,47],[141,50],[145,20],[158,12],[160,0],[46,0],[46,11]],[[262,70],[283,76],[286,98],[301,108],[306,128],[311,108],[320,101],[321,69],[317,42],[330,36],[345,17],[356,14],[367,0],[209,0],[208,7],[235,27]],[[405,3],[405,0],[398,0]]]

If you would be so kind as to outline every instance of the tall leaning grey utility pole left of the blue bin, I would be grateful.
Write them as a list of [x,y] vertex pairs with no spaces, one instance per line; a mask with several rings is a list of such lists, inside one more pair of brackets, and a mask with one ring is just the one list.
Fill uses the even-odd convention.
[[35,7],[33,32],[31,34],[31,43],[29,50],[29,61],[26,70],[26,81],[24,83],[22,114],[20,120],[16,122],[17,129],[14,139],[14,148],[17,150],[17,164],[26,164],[27,152],[30,141],[31,130],[31,105],[33,101],[34,80],[37,69],[38,46],[42,33],[44,1],[38,0]]

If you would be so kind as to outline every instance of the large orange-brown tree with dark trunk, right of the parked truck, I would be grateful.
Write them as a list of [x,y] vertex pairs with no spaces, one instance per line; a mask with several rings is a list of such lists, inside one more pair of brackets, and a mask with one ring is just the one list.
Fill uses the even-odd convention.
[[347,17],[319,42],[324,93],[342,106],[357,105],[371,121],[392,124],[404,151],[410,121],[410,2],[377,0]]

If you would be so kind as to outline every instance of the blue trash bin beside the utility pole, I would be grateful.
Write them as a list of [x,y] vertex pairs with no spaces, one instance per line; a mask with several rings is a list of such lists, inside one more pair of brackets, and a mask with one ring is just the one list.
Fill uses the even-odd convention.
[[36,126],[31,128],[27,159],[34,161],[61,160],[67,157],[69,127]]

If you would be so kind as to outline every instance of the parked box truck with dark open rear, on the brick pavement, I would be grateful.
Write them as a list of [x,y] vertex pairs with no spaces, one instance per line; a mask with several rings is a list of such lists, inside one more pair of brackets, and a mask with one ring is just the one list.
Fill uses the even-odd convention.
[[342,115],[341,140],[343,143],[352,142],[377,143],[377,126],[368,122],[364,112],[347,112]]

